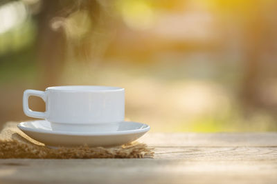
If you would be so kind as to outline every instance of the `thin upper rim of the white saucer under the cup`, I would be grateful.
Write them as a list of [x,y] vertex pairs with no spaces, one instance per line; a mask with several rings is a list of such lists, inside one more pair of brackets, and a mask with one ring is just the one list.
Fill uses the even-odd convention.
[[[22,131],[28,131],[28,132],[38,132],[38,133],[43,133],[43,134],[62,134],[62,135],[72,135],[72,136],[113,136],[113,135],[123,135],[123,134],[140,134],[140,133],[145,133],[150,130],[150,125],[147,125],[145,123],[139,123],[135,121],[122,121],[120,123],[138,123],[141,125],[146,125],[142,129],[135,129],[135,130],[121,130],[121,131],[114,131],[114,132],[66,132],[66,131],[57,131],[57,130],[42,130],[42,129],[37,129],[37,128],[32,128],[32,127],[26,127],[24,124],[26,123],[32,123],[32,122],[42,122],[46,120],[36,120],[36,121],[22,121],[17,124],[17,127],[19,130]],[[50,123],[49,121],[46,121]]]

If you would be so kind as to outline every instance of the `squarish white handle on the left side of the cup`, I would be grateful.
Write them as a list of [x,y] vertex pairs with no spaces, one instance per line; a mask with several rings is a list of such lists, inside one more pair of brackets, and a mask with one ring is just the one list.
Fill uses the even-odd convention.
[[27,116],[30,116],[30,117],[33,117],[33,118],[44,119],[46,117],[45,112],[37,112],[37,111],[30,110],[29,104],[28,104],[29,96],[38,96],[38,97],[42,98],[45,102],[46,93],[43,92],[43,91],[39,91],[39,90],[25,90],[24,94],[23,94],[23,110],[24,110],[24,113]]

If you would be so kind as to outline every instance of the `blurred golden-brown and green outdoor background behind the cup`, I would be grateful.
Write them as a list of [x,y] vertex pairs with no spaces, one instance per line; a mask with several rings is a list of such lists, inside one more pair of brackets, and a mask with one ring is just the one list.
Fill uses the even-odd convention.
[[[125,88],[152,132],[277,131],[277,1],[1,0],[0,125],[24,90]],[[42,99],[30,107],[44,111]]]

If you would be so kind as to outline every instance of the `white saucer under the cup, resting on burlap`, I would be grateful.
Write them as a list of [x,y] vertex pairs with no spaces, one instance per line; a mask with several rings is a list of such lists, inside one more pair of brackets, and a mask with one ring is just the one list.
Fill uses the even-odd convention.
[[143,123],[124,121],[118,124],[118,130],[111,132],[57,131],[52,129],[50,122],[44,120],[22,122],[17,127],[32,139],[53,147],[123,145],[139,139],[150,130],[150,126]]

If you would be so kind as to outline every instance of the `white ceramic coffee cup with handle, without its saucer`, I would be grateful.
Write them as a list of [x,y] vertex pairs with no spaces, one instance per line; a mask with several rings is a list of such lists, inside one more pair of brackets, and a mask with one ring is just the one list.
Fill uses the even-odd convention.
[[[39,96],[46,103],[45,112],[30,110],[29,96]],[[27,116],[46,119],[53,130],[109,131],[125,118],[124,88],[65,85],[44,91],[26,90],[23,110]]]

